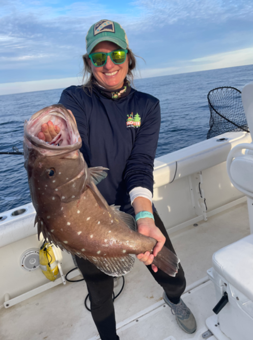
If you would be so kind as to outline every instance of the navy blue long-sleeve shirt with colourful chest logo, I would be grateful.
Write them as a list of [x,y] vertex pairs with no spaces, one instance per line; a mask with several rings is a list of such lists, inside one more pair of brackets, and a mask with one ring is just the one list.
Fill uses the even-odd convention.
[[[109,168],[97,187],[109,205],[134,215],[129,192],[142,186],[153,192],[153,167],[160,130],[159,100],[131,89],[117,100],[82,86],[65,89],[59,101],[70,109],[82,138],[88,167]],[[154,208],[153,208],[154,209]]]

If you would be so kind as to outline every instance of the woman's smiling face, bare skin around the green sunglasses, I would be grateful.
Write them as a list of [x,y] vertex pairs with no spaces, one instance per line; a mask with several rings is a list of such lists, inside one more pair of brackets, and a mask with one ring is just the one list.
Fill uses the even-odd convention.
[[[97,44],[91,53],[94,52],[112,52],[115,50],[121,50],[118,45],[110,41],[102,41]],[[107,56],[107,61],[104,66],[96,67],[89,59],[89,65],[93,76],[97,82],[108,90],[116,90],[123,86],[124,79],[128,72],[129,54],[127,54],[126,60],[123,64],[116,65],[112,62],[111,57]]]

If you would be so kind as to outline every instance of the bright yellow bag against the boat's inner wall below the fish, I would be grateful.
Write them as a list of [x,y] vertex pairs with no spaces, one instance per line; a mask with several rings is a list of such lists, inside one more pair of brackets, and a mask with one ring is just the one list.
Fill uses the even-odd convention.
[[39,251],[39,266],[47,279],[55,281],[59,269],[50,243],[44,242]]

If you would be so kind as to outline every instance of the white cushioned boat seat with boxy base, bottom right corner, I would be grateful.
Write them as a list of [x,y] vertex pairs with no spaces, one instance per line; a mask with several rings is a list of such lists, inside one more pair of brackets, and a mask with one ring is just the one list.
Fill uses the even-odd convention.
[[216,326],[206,320],[218,340],[252,340],[253,335],[253,234],[213,255],[207,271],[214,283],[217,302],[227,293],[228,303],[218,313]]

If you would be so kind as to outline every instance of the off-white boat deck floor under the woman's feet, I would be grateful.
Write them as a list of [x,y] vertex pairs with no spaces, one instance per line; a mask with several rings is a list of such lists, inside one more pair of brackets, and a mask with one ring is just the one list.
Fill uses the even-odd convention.
[[[214,315],[213,284],[206,277],[215,251],[250,234],[247,203],[214,215],[206,222],[170,234],[187,279],[183,295],[197,319],[197,332],[187,335],[177,326],[162,300],[162,288],[136,260],[125,276],[126,284],[115,300],[120,340],[200,340],[205,320]],[[121,287],[121,281],[116,289]],[[0,310],[0,340],[99,339],[90,313],[84,307],[84,281],[51,288],[9,309]],[[209,339],[213,340],[214,337]]]

